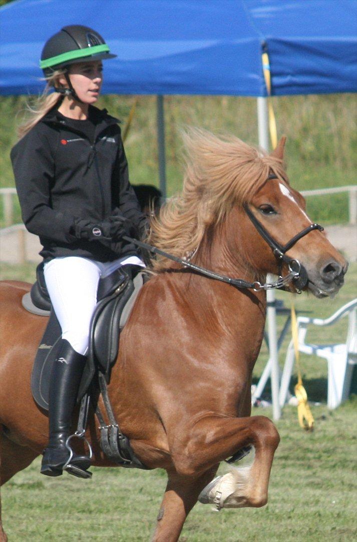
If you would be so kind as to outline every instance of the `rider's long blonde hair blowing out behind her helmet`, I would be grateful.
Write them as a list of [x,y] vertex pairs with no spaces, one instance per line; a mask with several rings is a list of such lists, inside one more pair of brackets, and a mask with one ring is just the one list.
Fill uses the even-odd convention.
[[58,78],[64,73],[65,70],[56,70],[48,78],[45,78],[44,80],[47,81],[47,84],[41,96],[35,100],[34,104],[30,104],[29,102],[26,104],[30,117],[18,127],[17,133],[19,139],[23,138],[62,99],[62,94],[59,92],[52,92],[51,94],[49,92],[51,87],[59,84]]

